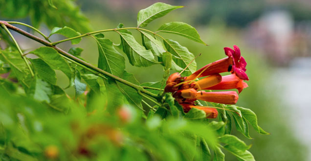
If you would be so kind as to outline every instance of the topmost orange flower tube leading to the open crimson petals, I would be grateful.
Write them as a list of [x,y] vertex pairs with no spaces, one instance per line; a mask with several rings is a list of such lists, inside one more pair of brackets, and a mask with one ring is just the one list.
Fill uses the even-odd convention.
[[221,60],[217,60],[217,61],[214,61],[212,63],[209,63],[203,66],[201,69],[197,70],[192,75],[186,77],[185,81],[194,80],[197,77],[204,77],[204,76],[209,76],[212,74],[231,72],[231,71],[233,72],[232,66],[234,65],[234,59],[233,59],[232,53],[229,51],[229,52],[226,52],[225,54],[228,56],[228,58],[223,58]]

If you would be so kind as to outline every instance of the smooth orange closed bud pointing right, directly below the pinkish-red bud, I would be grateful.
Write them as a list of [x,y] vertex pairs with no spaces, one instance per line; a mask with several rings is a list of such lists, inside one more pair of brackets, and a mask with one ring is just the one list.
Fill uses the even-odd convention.
[[239,100],[239,95],[235,91],[205,92],[198,91],[196,99],[223,104],[235,104]]

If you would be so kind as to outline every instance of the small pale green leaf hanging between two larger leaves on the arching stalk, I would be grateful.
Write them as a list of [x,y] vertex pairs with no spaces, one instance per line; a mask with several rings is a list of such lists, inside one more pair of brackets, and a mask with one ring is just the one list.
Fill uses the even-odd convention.
[[162,42],[143,31],[140,31],[140,32],[141,32],[142,43],[146,47],[146,49],[151,50],[151,52],[155,56],[162,57],[162,53],[165,52]]

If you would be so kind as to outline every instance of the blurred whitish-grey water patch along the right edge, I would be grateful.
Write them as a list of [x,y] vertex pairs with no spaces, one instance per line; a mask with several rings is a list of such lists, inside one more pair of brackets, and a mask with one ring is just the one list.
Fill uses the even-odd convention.
[[296,58],[287,68],[279,68],[272,76],[279,93],[289,109],[289,120],[298,138],[309,146],[311,161],[311,58]]

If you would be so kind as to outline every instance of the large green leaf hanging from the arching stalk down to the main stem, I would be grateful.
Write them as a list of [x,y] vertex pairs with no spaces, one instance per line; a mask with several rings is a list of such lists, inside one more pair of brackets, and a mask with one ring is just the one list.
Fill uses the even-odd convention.
[[115,50],[111,40],[101,37],[102,34],[95,35],[98,45],[98,67],[121,77],[125,69],[124,57]]

